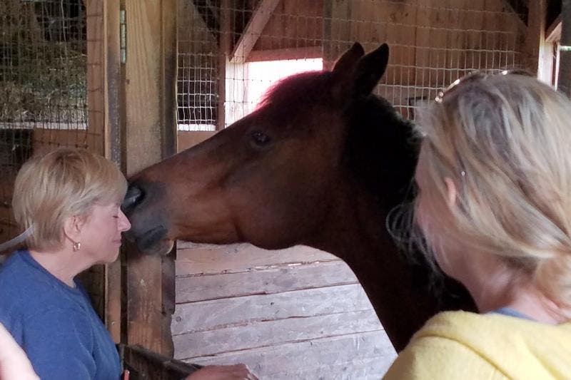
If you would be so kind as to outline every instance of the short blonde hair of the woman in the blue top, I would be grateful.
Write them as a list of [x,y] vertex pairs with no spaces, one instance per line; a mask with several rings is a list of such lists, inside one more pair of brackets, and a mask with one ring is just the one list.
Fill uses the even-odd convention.
[[126,179],[116,165],[88,150],[59,148],[31,158],[19,170],[12,209],[23,229],[34,225],[28,247],[61,247],[64,221],[89,215],[95,204],[121,202]]

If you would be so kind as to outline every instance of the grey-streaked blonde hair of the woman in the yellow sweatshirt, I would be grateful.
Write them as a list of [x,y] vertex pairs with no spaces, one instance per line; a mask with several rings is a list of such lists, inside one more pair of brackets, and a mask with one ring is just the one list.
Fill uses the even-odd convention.
[[[497,255],[571,306],[569,99],[535,78],[482,76],[419,120],[423,212],[437,221],[422,231],[428,246],[451,239]],[[458,191],[454,207],[445,178]]]

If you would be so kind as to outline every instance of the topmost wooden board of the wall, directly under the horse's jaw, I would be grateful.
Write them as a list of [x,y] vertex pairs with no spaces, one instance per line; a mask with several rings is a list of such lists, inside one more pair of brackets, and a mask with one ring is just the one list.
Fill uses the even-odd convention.
[[193,245],[177,242],[176,275],[245,272],[276,265],[338,260],[315,248],[296,246],[287,250],[262,250],[249,244]]

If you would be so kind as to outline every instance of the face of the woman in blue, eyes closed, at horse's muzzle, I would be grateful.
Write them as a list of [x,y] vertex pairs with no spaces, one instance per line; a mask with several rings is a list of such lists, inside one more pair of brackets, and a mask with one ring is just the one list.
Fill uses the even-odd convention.
[[121,211],[119,202],[94,205],[81,229],[81,251],[91,255],[94,262],[113,262],[121,247],[121,232],[129,228],[131,223]]

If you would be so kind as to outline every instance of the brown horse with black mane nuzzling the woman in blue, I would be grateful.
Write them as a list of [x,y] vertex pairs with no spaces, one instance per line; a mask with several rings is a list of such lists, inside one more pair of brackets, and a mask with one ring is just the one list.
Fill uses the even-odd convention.
[[422,260],[405,260],[385,227],[417,158],[412,125],[372,94],[388,62],[360,44],[333,71],[275,86],[258,109],[131,178],[123,210],[143,252],[173,240],[308,245],[344,260],[397,350],[442,309],[474,309],[453,284],[436,294]]

